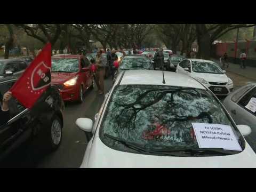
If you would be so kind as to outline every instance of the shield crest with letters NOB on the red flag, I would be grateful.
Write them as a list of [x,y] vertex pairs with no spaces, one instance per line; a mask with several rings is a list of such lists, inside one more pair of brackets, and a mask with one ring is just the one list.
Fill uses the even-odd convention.
[[38,91],[51,84],[51,68],[42,61],[33,70],[31,75],[31,88]]

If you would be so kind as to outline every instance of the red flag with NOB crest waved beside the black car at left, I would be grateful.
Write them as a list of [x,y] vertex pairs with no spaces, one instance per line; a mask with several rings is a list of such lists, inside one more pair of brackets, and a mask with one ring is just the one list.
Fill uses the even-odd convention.
[[13,97],[28,109],[51,85],[51,57],[52,46],[47,43],[10,90]]

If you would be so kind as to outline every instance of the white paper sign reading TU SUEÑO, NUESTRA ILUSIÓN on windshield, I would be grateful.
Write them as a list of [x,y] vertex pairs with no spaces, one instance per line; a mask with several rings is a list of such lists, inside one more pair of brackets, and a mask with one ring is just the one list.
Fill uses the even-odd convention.
[[192,123],[199,148],[223,148],[242,151],[229,125]]

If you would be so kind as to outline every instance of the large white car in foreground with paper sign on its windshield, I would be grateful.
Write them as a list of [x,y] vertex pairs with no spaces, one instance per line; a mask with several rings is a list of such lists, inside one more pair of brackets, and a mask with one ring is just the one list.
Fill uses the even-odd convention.
[[[122,71],[95,122],[77,119],[76,125],[92,134],[81,167],[256,167],[243,137],[250,127],[237,126],[195,79],[164,75],[165,81],[162,71]],[[241,150],[199,148],[192,123],[227,125]]]

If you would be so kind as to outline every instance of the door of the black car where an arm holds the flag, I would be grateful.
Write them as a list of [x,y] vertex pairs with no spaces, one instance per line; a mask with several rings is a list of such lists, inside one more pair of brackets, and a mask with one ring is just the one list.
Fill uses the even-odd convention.
[[[11,80],[0,84],[1,100],[3,94],[10,90],[14,83],[15,80]],[[9,121],[0,127],[0,158],[30,135],[26,132],[30,119],[28,110],[21,105],[19,106],[15,98],[9,101],[9,113]]]

